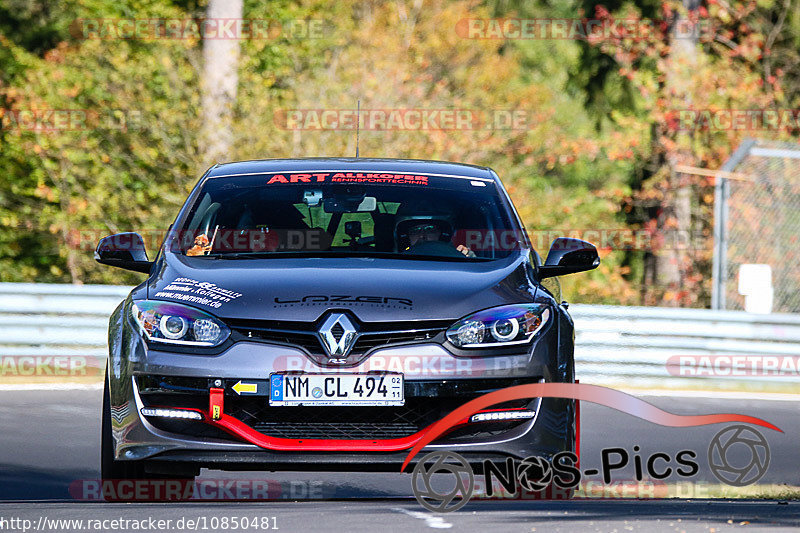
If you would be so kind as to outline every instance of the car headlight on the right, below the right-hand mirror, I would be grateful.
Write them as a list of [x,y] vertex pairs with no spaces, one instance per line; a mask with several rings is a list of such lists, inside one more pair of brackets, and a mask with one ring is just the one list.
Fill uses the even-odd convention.
[[456,348],[490,348],[530,342],[550,318],[542,304],[493,307],[462,318],[447,330]]

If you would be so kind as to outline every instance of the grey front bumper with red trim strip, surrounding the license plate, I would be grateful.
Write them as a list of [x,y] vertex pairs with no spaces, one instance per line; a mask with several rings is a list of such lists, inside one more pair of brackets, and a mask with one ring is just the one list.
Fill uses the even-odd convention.
[[[297,408],[269,407],[266,385],[263,393],[259,389],[261,394],[247,398],[247,403],[232,389],[239,380],[266,383],[272,372],[403,372],[407,406],[429,407],[425,416],[413,421],[418,432],[482,394],[524,383],[554,381],[553,362],[548,357],[552,351],[544,345],[534,346],[527,354],[464,358],[453,356],[441,345],[417,344],[379,350],[357,367],[331,369],[318,367],[302,352],[293,353],[286,346],[237,342],[219,355],[208,356],[152,350],[135,334],[128,340],[127,357],[121,358],[119,364],[112,361],[109,366],[115,455],[118,460],[145,460],[154,468],[167,470],[169,464],[254,470],[400,470],[418,439],[403,440],[396,434],[389,438],[370,437],[364,434],[369,426],[365,429],[363,424],[357,428],[361,438],[309,439],[295,433],[288,439],[284,435],[282,445],[274,446],[276,441],[269,438],[273,436],[257,429],[259,416],[266,416],[264,413],[295,409],[295,420],[281,419],[291,426],[306,416],[323,423],[325,419],[319,420],[321,411],[317,410],[327,409],[328,414],[333,413],[327,420],[335,428],[352,425],[353,420],[348,417],[353,410],[370,408],[308,407],[300,413]],[[213,388],[224,391],[226,416],[248,426],[255,432],[251,436],[268,438],[247,438],[246,432],[237,434],[213,421],[209,406],[209,391]],[[194,409],[202,414],[203,421],[165,423],[158,417],[144,416],[141,409],[145,407]],[[529,398],[503,407],[533,410],[535,418],[495,425],[490,431],[483,431],[486,424],[466,424],[429,444],[424,451],[447,448],[480,461],[552,455],[574,446],[571,400]],[[374,424],[379,419],[367,423]],[[385,431],[379,425],[375,429]],[[405,437],[412,435],[413,432]]]

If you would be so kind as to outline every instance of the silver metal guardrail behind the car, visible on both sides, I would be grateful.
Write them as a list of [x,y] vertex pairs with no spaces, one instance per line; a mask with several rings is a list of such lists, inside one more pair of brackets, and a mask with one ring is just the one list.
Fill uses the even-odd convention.
[[[0,356],[83,355],[103,364],[108,316],[130,289],[0,283]],[[680,386],[682,378],[668,368],[673,356],[800,356],[800,315],[601,305],[573,305],[570,312],[584,383]],[[797,377],[747,378],[756,381]]]

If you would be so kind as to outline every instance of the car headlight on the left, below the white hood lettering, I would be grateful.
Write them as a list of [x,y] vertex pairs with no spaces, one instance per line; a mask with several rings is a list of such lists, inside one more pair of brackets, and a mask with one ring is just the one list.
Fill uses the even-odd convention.
[[187,346],[217,346],[231,334],[228,326],[205,311],[170,302],[142,300],[131,315],[148,340]]

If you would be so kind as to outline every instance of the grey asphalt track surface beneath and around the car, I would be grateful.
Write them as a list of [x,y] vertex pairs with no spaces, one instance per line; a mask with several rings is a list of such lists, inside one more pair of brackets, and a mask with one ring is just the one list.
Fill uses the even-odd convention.
[[[672,496],[699,499],[473,501],[456,512],[435,515],[413,499],[407,474],[203,470],[201,479],[206,480],[269,480],[273,486],[280,486],[279,499],[185,504],[76,501],[69,487],[77,480],[99,477],[101,396],[100,389],[0,391],[0,500],[5,502],[0,503],[0,530],[15,530],[14,523],[3,522],[9,518],[31,520],[31,529],[39,526],[39,530],[71,531],[79,530],[77,524],[39,520],[150,517],[173,520],[166,528],[170,531],[180,530],[177,521],[181,518],[202,519],[206,521],[205,530],[221,530],[219,522],[211,527],[214,524],[209,520],[215,517],[275,517],[283,531],[800,530],[800,502],[704,498],[708,484],[719,485],[708,466],[709,443],[727,425],[668,428],[588,403],[582,404],[582,470],[601,469],[603,448],[624,448],[631,458],[639,455],[645,463],[656,452],[674,457],[682,450],[691,450],[697,455],[699,472],[691,478],[673,474],[664,481],[681,487]],[[800,486],[800,402],[747,399],[744,394],[740,399],[640,397],[672,413],[741,413],[775,424],[783,433],[759,428],[771,452],[769,468],[759,483]],[[612,478],[611,485],[602,485],[602,475],[586,477],[596,487],[610,487],[606,496],[619,495],[621,492],[613,487],[634,478],[633,459],[628,467],[614,471]],[[21,531],[23,524],[16,522],[16,530]],[[50,527],[46,527],[48,524]],[[127,528],[114,527],[117,525],[107,522],[102,529],[132,530],[130,523]],[[204,530],[202,523],[195,525]],[[81,529],[89,527],[85,523]],[[185,521],[183,529],[187,529]]]

